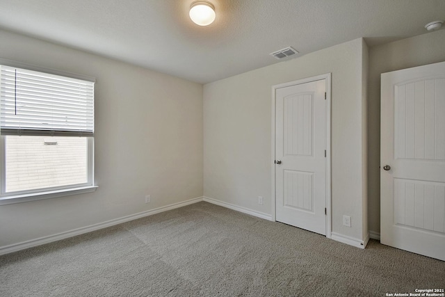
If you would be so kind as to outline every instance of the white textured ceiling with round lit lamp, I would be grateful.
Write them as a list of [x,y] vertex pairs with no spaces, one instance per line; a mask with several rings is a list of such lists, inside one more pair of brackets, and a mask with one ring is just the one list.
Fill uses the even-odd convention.
[[0,0],[0,28],[208,83],[364,37],[369,46],[427,33],[444,0],[209,0],[216,21],[197,26],[193,0]]

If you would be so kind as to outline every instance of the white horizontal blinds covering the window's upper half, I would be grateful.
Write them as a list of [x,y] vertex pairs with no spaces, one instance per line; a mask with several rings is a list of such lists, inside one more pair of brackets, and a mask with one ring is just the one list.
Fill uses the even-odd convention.
[[94,82],[0,66],[2,135],[93,136]]

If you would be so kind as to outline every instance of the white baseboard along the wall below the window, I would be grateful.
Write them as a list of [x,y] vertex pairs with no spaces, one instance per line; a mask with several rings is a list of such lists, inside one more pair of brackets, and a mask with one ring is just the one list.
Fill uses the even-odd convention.
[[0,255],[5,255],[10,252],[17,252],[18,250],[24,250],[26,248],[32,248],[33,246],[41,246],[42,244],[58,241],[60,239],[67,239],[72,236],[92,232],[92,231],[99,230],[99,229],[106,228],[106,227],[111,227],[113,225],[118,225],[120,223],[129,222],[130,220],[136,220],[137,218],[143,218],[145,216],[152,216],[153,214],[159,214],[160,212],[163,212],[163,211],[168,211],[171,209],[184,207],[188,204],[193,204],[196,202],[200,202],[202,200],[203,200],[202,197],[198,197],[198,198],[194,198],[191,200],[186,200],[183,202],[177,202],[177,203],[173,203],[170,205],[166,205],[165,207],[158,207],[156,209],[142,211],[137,214],[131,214],[129,216],[122,216],[121,218],[114,218],[113,220],[106,220],[105,222],[102,222],[102,223],[97,223],[97,224],[89,225],[86,227],[80,227],[80,228],[70,230],[70,231],[60,232],[58,234],[44,236],[44,237],[40,237],[38,239],[31,239],[29,241],[14,243],[9,246],[2,246],[2,247],[0,247]]

